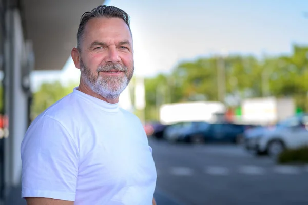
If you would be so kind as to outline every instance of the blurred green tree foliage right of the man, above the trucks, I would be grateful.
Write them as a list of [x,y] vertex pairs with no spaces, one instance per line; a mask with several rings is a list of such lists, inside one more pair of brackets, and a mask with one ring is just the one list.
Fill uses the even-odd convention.
[[308,111],[308,47],[294,45],[291,55],[262,59],[229,55],[223,58],[224,76],[219,76],[218,66],[218,56],[203,57],[180,63],[170,74],[146,79],[146,118],[155,119],[153,108],[162,103],[216,101],[222,80],[225,84],[223,102],[227,106],[239,106],[241,100],[248,97],[288,96],[296,100],[298,107]]

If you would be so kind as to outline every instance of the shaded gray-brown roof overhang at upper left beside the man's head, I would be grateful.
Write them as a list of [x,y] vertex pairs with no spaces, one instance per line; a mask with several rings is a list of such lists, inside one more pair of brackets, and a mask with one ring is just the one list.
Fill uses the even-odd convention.
[[22,0],[25,38],[32,40],[35,70],[59,70],[65,65],[81,15],[104,0]]

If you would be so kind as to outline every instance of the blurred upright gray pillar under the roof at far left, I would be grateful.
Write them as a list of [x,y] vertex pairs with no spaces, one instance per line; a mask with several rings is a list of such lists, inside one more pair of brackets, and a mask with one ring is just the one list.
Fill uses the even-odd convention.
[[27,76],[30,72],[25,46],[21,16],[18,9],[11,9],[6,14],[5,47],[5,112],[9,117],[9,136],[5,139],[5,185],[20,185],[21,155],[20,146],[28,128],[28,88]]

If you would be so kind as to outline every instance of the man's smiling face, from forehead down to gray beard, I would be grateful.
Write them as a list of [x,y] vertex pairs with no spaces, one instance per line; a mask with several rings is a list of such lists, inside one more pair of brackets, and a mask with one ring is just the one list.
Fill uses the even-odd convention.
[[120,18],[89,20],[81,41],[81,77],[93,92],[118,98],[133,76],[132,37]]

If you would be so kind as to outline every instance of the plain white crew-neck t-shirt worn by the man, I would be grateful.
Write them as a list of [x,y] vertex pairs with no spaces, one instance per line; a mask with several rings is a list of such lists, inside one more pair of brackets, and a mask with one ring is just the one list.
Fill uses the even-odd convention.
[[21,157],[23,198],[152,204],[157,174],[140,120],[76,88],[32,122]]

